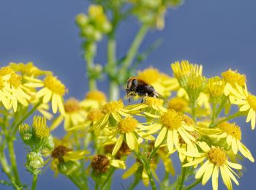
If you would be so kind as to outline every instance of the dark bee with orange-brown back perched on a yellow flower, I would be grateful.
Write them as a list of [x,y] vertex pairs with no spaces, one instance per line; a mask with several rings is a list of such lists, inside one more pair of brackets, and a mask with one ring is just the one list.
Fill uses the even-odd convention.
[[[151,96],[154,98],[159,98],[159,94],[155,91],[154,87],[148,85],[145,81],[139,79],[138,77],[130,77],[127,81],[127,97],[129,96],[143,96],[141,102],[144,101],[146,96]],[[129,99],[130,102],[130,99]]]

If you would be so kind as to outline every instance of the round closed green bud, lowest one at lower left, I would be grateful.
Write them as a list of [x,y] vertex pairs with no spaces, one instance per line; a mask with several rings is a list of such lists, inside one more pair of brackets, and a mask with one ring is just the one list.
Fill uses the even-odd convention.
[[29,170],[32,174],[38,174],[41,172],[42,167],[44,166],[44,160],[40,153],[31,152],[26,155],[26,169]]

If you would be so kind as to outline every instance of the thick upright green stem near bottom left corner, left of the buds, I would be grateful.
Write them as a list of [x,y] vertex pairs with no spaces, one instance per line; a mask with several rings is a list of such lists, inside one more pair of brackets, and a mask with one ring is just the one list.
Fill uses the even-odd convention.
[[10,162],[11,162],[12,172],[15,178],[15,183],[17,183],[18,185],[21,185],[20,177],[18,174],[18,168],[16,164],[16,156],[14,151],[13,140],[11,138],[7,140],[7,147],[10,153]]

